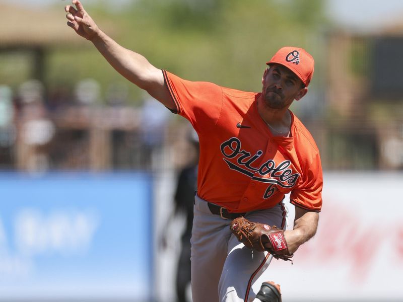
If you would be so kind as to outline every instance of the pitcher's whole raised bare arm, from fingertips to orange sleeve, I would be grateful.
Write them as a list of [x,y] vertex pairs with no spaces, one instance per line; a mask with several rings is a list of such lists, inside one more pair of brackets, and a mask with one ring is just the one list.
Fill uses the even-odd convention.
[[73,0],[73,6],[66,6],[68,13],[67,24],[76,33],[90,40],[109,64],[123,77],[146,90],[152,97],[169,109],[175,109],[175,104],[164,83],[162,70],[153,66],[144,56],[117,44],[101,31],[90,15],[84,10],[79,0]]

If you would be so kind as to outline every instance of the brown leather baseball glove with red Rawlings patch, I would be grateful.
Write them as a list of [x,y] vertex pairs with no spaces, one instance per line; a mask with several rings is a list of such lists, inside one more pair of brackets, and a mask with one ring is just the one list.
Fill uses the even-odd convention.
[[250,249],[267,251],[276,259],[291,261],[294,256],[288,250],[284,231],[276,225],[252,222],[241,216],[231,221],[230,228],[236,238]]

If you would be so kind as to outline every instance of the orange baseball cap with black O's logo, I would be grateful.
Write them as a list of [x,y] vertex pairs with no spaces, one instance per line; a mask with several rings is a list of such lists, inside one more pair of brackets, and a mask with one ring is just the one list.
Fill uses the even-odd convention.
[[289,68],[301,79],[305,86],[308,86],[311,82],[315,61],[305,49],[292,46],[280,48],[273,58],[266,62],[267,65],[273,63]]

